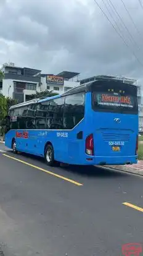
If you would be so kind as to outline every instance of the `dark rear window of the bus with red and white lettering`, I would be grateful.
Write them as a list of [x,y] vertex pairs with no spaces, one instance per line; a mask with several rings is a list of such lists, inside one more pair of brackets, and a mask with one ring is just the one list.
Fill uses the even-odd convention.
[[137,114],[137,97],[123,92],[92,92],[96,111]]

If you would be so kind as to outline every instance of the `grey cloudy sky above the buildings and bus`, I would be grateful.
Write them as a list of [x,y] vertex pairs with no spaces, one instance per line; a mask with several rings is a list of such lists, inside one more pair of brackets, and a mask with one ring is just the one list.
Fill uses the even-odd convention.
[[0,0],[0,64],[142,80],[143,0],[96,1]]

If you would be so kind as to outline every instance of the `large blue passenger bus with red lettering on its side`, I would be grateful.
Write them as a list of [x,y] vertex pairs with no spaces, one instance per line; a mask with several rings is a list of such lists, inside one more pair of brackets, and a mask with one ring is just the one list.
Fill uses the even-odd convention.
[[6,123],[6,147],[42,156],[49,166],[137,163],[134,85],[97,80],[12,106]]

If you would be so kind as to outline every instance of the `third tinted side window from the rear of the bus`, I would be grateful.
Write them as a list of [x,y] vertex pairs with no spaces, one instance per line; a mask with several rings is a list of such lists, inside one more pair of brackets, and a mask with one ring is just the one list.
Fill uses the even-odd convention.
[[46,129],[46,114],[48,101],[39,103],[36,110],[35,129]]

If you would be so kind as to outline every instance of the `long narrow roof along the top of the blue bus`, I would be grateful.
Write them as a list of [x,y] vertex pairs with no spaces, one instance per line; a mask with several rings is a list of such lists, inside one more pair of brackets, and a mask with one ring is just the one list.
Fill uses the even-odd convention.
[[[132,89],[135,90],[135,93],[137,93],[137,87],[136,85],[131,85],[129,83],[123,83],[121,81],[118,81],[118,80],[95,80],[94,82],[89,82],[88,84],[85,84],[85,85],[80,85],[78,87],[75,87],[75,88],[71,88],[70,90],[68,90],[67,92],[64,92],[60,95],[56,95],[56,96],[52,96],[52,97],[47,97],[47,98],[44,98],[44,99],[40,99],[40,98],[37,98],[37,99],[33,99],[33,100],[30,100],[30,101],[26,101],[26,102],[23,102],[23,103],[20,103],[20,104],[17,104],[17,105],[14,105],[14,106],[11,106],[10,109],[12,108],[18,108],[20,106],[27,106],[27,105],[30,105],[30,104],[33,104],[33,103],[41,103],[41,102],[44,102],[44,101],[47,101],[47,100],[53,100],[55,98],[60,98],[62,96],[67,96],[67,95],[71,95],[71,94],[75,94],[75,93],[80,93],[80,92],[91,92],[91,86],[96,85],[97,84],[103,84],[103,85],[108,85],[108,83],[110,83],[111,85],[113,83],[116,83],[118,85],[124,85],[125,87],[131,87]],[[136,95],[135,95],[136,96]]]

